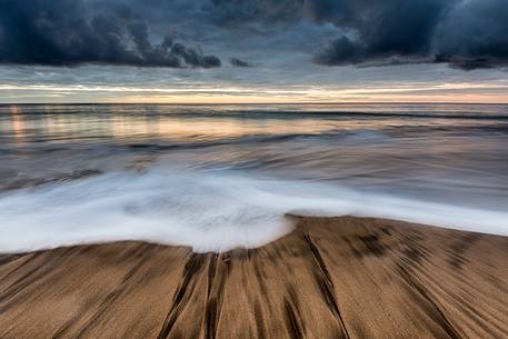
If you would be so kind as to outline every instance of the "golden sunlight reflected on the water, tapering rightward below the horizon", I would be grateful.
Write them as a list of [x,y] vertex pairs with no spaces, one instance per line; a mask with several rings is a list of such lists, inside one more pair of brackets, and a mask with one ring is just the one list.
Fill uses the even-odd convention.
[[[107,114],[93,111],[87,114],[61,113],[51,111],[50,107],[42,107],[37,116],[30,118],[31,134],[26,133],[27,116],[21,108],[11,108],[12,132],[18,143],[26,138],[40,137],[52,142],[69,141],[74,138],[97,139],[112,138],[118,140],[159,139],[168,141],[181,140],[219,140],[225,138],[241,138],[246,136],[277,136],[309,133],[317,134],[325,130],[355,130],[381,128],[405,123],[402,119],[394,118],[388,121],[372,121],[370,119],[337,119],[306,116],[305,119],[290,119],[280,116],[237,117],[215,116],[210,111],[206,116],[180,116],[178,108],[167,108],[171,113],[151,113],[143,109],[140,114],[132,114],[121,106],[111,107]],[[213,108],[216,110],[217,108]],[[177,111],[176,113],[172,113]]]

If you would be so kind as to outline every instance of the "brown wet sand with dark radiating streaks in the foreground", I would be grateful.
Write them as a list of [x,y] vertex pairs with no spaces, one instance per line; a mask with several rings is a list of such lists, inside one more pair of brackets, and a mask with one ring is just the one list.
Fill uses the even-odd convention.
[[508,338],[508,238],[299,218],[253,250],[0,256],[0,338]]

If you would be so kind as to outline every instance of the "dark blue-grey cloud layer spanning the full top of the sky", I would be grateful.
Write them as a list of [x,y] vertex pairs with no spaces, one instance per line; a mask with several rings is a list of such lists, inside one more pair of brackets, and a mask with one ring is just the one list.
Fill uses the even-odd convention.
[[248,67],[262,60],[231,56],[228,42],[265,34],[269,56],[285,47],[271,37],[291,30],[286,44],[325,66],[508,64],[506,0],[0,0],[0,8],[1,63],[213,68],[226,58]]

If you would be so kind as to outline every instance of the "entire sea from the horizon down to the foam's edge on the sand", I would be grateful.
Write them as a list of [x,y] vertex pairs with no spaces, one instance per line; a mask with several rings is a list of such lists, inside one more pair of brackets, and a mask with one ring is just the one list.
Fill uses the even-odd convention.
[[508,235],[508,106],[0,106],[0,252],[258,247],[286,213]]

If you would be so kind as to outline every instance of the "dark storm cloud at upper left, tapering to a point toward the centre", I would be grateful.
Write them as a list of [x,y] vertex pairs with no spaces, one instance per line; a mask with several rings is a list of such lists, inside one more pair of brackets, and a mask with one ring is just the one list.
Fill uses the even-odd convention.
[[153,44],[143,18],[121,1],[0,0],[0,62],[219,67],[219,58],[166,37]]

